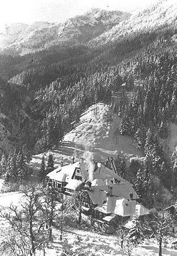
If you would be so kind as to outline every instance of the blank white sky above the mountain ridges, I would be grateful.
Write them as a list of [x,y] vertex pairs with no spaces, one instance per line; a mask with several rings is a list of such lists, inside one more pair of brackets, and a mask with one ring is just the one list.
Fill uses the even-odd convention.
[[60,22],[92,7],[132,11],[158,0],[0,0],[0,23]]

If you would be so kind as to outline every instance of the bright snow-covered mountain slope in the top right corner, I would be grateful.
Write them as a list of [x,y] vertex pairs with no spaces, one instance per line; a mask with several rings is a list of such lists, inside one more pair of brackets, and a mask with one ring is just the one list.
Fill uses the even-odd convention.
[[148,31],[152,28],[166,24],[176,26],[177,1],[161,0],[155,5],[138,14],[133,14],[129,19],[120,22],[111,30],[93,39],[94,44],[106,44],[120,40],[132,32]]

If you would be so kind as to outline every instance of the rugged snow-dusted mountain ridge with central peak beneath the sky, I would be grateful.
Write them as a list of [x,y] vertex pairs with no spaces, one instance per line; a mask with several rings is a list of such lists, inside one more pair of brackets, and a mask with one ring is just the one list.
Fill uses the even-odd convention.
[[66,42],[71,45],[87,43],[129,16],[121,11],[91,9],[63,23],[36,22],[28,26],[6,49],[23,55]]

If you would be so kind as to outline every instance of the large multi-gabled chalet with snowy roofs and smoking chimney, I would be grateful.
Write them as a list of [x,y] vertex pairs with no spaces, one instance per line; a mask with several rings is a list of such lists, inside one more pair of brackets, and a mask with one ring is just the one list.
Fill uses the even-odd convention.
[[131,228],[136,212],[141,218],[149,214],[137,202],[139,197],[133,185],[117,175],[112,158],[104,163],[84,159],[74,162],[74,158],[72,161],[50,172],[48,185],[65,196],[83,191],[82,211],[90,216],[97,229],[112,233],[120,223]]

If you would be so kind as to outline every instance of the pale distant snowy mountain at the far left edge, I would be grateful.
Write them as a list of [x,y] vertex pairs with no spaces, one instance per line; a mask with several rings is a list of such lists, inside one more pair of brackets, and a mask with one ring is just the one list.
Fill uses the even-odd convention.
[[0,24],[0,49],[9,46],[26,30],[27,24],[14,23],[9,26]]

